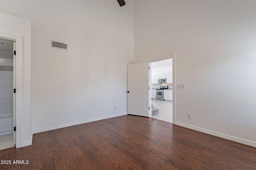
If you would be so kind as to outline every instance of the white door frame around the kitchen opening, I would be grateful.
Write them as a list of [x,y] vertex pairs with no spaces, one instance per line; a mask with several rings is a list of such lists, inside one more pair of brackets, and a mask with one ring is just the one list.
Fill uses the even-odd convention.
[[[150,63],[150,67],[151,67],[151,63],[156,62],[156,61],[162,61],[162,60],[166,60],[166,59],[172,59],[172,124],[175,125],[175,92],[176,92],[176,86],[175,86],[175,54],[172,55],[167,55],[164,57],[160,57],[157,59],[152,59],[150,61],[148,61]],[[150,68],[150,83],[151,83],[151,77],[152,77],[152,72],[151,72],[151,68]],[[151,84],[150,84],[151,86]],[[150,106],[152,106],[152,100],[151,100],[151,87],[150,87]],[[151,110],[150,110],[150,117],[152,116]]]

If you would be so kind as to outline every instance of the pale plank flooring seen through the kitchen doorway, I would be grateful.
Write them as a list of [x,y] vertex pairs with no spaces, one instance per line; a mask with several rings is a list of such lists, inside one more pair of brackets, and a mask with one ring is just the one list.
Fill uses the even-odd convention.
[[152,99],[152,104],[159,109],[158,114],[152,115],[152,118],[172,123],[172,101]]

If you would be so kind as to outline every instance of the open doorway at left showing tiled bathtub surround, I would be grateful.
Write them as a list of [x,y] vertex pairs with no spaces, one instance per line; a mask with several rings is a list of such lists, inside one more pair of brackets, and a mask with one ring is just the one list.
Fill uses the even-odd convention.
[[0,38],[0,150],[15,147],[16,42]]

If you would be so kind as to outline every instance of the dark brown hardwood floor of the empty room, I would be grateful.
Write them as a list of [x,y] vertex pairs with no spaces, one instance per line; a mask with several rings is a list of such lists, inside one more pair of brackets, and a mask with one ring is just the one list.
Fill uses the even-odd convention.
[[125,115],[34,134],[33,145],[2,150],[0,160],[12,161],[1,170],[255,170],[256,148]]

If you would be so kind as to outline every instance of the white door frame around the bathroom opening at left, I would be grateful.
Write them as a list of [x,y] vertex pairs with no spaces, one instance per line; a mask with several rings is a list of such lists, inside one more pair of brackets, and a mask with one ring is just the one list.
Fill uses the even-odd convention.
[[21,35],[0,32],[0,37],[16,41],[16,148],[22,147],[22,42]]

